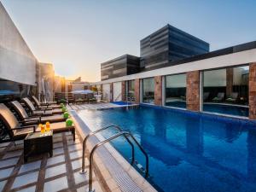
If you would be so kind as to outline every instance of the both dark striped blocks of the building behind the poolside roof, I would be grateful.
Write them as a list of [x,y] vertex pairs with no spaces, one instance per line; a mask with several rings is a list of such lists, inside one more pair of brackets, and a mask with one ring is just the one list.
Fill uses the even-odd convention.
[[184,58],[209,52],[209,44],[169,24],[143,38],[140,57],[122,55],[101,64],[102,80],[177,65]]

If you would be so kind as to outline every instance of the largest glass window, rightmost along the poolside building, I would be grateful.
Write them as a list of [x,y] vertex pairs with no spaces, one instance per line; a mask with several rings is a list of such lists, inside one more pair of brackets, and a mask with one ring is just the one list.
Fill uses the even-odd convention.
[[248,116],[249,67],[203,72],[203,111]]

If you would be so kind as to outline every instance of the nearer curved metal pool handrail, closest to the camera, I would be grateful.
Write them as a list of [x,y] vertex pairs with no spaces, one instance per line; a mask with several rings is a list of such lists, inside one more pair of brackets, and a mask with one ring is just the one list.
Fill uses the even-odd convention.
[[135,143],[137,143],[137,146],[141,149],[141,151],[143,152],[143,154],[145,155],[146,157],[146,172],[145,172],[145,177],[148,177],[148,154],[144,151],[143,147],[137,142],[137,140],[135,139],[135,137],[133,137],[131,135],[130,132],[127,132],[127,131],[123,131],[123,132],[119,132],[115,135],[113,135],[113,137],[109,137],[108,139],[100,142],[100,143],[97,143],[96,146],[94,146],[94,148],[91,149],[91,152],[90,152],[90,168],[89,168],[89,192],[93,192],[94,190],[92,190],[92,163],[93,163],[93,154],[95,153],[96,149],[100,146],[102,146],[102,144],[104,143],[108,143],[110,142],[111,140],[117,138],[117,137],[120,137],[120,136],[128,136],[128,137],[131,137],[133,139],[133,141]]

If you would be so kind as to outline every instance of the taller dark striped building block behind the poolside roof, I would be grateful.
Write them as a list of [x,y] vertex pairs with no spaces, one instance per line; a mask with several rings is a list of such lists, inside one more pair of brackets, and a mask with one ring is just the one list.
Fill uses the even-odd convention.
[[168,24],[141,40],[141,70],[167,67],[172,61],[207,52],[207,42]]

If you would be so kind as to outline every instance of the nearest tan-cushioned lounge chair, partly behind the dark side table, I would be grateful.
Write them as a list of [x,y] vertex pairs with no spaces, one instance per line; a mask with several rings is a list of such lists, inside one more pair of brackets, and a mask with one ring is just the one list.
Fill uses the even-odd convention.
[[[0,103],[0,119],[2,119],[3,124],[8,128],[9,137],[12,140],[18,138],[23,139],[30,132],[40,131],[38,125],[21,125],[15,115],[3,103]],[[67,126],[66,122],[52,123],[50,124],[50,129],[54,134],[71,131],[73,134],[73,141],[75,141],[75,127]]]

